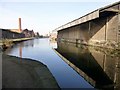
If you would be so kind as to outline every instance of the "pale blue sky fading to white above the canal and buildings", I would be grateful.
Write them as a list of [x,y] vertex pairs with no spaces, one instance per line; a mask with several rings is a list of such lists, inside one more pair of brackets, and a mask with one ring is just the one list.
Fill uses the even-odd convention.
[[0,0],[0,28],[33,29],[47,34],[57,27],[119,0]]

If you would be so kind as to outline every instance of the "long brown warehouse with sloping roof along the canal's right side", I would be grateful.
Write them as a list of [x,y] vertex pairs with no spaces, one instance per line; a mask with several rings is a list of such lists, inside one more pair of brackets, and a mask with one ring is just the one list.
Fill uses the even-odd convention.
[[58,41],[120,49],[120,2],[55,29]]

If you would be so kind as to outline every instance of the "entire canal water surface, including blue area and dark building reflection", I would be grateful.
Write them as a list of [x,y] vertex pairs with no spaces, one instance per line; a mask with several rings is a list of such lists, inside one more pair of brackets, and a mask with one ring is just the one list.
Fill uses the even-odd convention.
[[47,65],[60,88],[120,87],[119,55],[104,50],[44,38],[21,42],[5,53]]

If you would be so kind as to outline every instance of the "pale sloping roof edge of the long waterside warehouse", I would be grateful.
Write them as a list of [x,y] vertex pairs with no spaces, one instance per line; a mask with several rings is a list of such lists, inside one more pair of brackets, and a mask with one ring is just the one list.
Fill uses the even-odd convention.
[[90,21],[90,20],[93,20],[93,19],[96,19],[96,18],[99,18],[101,14],[104,15],[104,13],[119,13],[119,6],[120,6],[120,1],[119,2],[116,2],[116,3],[113,3],[113,4],[110,4],[108,6],[105,6],[105,7],[102,7],[102,8],[99,8],[93,12],[90,12],[78,19],[75,19],[71,22],[68,22],[58,28],[56,28],[55,30],[53,31],[59,31],[59,30],[62,30],[62,29],[65,29],[65,28],[69,28],[69,27],[72,27],[72,26],[75,26],[75,25],[78,25],[78,24],[82,24],[82,23],[85,23],[87,21]]

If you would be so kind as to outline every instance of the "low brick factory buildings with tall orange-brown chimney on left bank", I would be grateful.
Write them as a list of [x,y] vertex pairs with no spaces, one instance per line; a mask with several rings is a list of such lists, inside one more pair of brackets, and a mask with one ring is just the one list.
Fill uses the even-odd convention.
[[18,29],[0,29],[0,39],[16,39],[35,37],[33,30],[21,29],[21,18],[18,20]]

